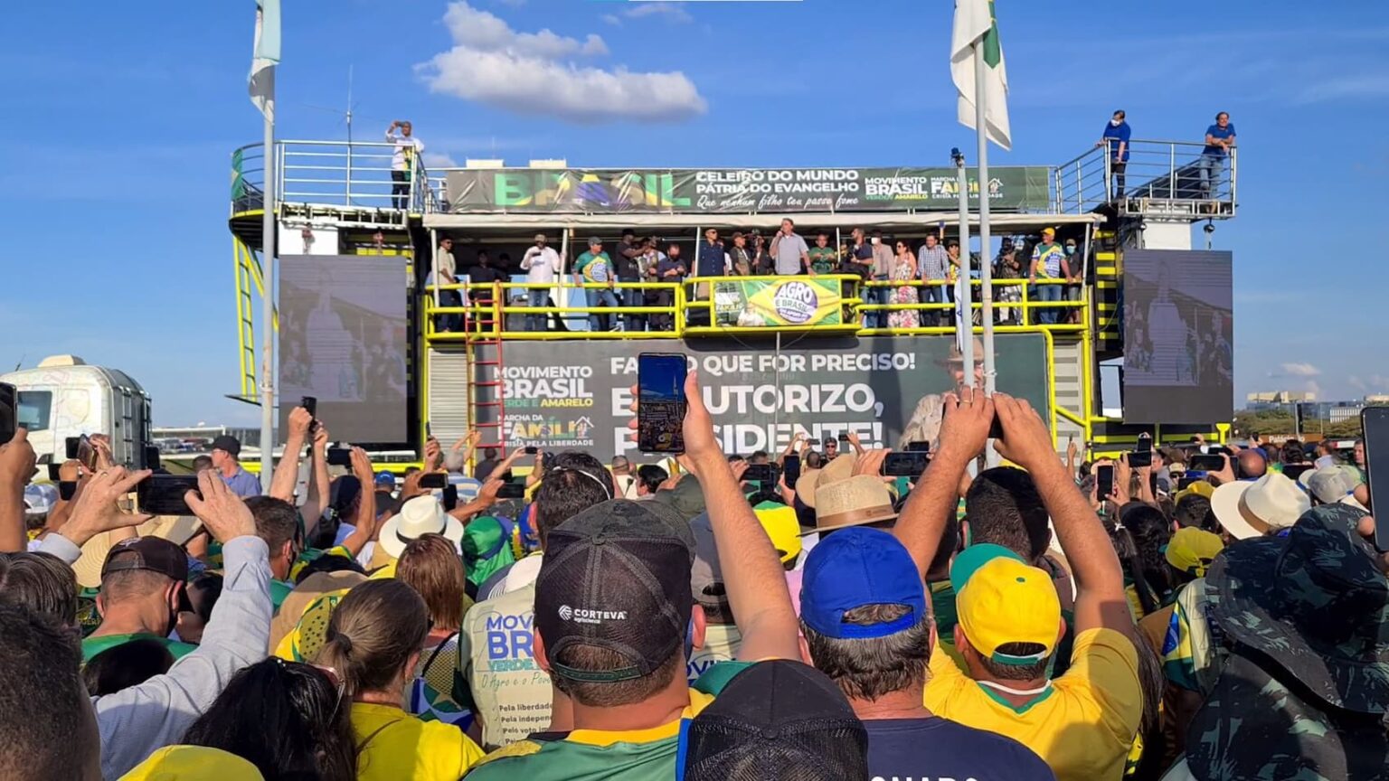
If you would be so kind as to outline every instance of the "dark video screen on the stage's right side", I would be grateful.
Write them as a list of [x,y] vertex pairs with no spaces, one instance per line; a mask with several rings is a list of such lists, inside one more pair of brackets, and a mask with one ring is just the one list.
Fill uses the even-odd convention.
[[1228,252],[1124,253],[1124,422],[1235,414],[1232,267]]

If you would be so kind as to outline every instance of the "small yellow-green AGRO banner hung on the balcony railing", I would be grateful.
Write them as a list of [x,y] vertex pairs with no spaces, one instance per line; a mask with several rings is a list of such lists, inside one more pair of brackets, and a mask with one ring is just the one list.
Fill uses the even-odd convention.
[[721,279],[714,286],[714,322],[742,328],[839,325],[839,279]]

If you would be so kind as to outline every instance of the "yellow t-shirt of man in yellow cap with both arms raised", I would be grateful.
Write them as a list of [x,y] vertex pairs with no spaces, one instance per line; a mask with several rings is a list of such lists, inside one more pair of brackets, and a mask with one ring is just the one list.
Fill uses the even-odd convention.
[[1138,650],[1114,630],[1076,635],[1071,667],[1025,706],[1013,706],[931,655],[925,705],[965,727],[1013,738],[1038,753],[1057,781],[1120,781],[1143,714]]

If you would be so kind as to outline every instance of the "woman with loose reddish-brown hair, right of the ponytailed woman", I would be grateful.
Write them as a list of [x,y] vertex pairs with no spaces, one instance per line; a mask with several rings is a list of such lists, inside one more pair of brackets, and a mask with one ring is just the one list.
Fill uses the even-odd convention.
[[464,591],[463,560],[449,538],[425,534],[400,553],[396,579],[424,598],[431,621],[424,653],[407,684],[406,710],[424,721],[467,731],[472,725],[472,699],[458,659],[458,630],[472,600]]

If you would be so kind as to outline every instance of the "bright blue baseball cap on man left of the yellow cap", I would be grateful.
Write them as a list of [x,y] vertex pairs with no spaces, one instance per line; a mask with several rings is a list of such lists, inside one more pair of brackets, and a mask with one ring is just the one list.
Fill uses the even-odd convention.
[[[845,613],[867,605],[906,605],[911,611],[882,624],[845,623]],[[842,528],[821,539],[806,557],[800,617],[828,638],[883,638],[926,617],[926,589],[897,538],[868,527]]]

